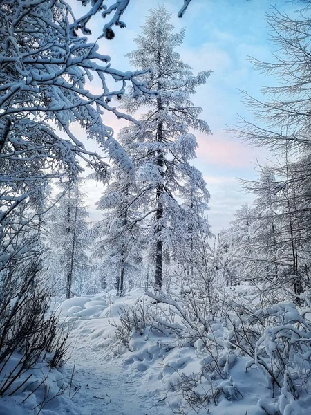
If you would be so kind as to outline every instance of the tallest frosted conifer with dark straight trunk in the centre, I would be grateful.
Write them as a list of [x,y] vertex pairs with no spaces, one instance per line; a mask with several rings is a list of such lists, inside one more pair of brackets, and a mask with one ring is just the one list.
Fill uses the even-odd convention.
[[151,68],[142,79],[154,94],[124,97],[126,111],[147,112],[140,117],[140,129],[127,127],[119,137],[135,165],[140,189],[137,197],[149,222],[144,243],[155,261],[158,286],[162,285],[164,258],[171,257],[188,234],[178,197],[186,196],[189,178],[194,181],[191,186],[205,187],[200,174],[194,174],[194,167],[189,165],[197,147],[191,130],[210,133],[207,123],[198,118],[202,110],[190,100],[210,73],[195,76],[182,62],[176,48],[182,44],[185,30],[174,33],[169,19],[164,6],[151,10],[142,35],[135,39],[138,49],[128,55],[133,66],[142,71]]

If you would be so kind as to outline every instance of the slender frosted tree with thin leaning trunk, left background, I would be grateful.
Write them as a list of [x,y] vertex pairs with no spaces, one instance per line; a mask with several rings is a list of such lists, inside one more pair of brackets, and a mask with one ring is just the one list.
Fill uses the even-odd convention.
[[59,183],[62,192],[56,196],[57,203],[49,212],[50,255],[48,270],[51,282],[66,298],[80,295],[91,275],[88,260],[90,236],[84,205],[84,195],[79,182]]

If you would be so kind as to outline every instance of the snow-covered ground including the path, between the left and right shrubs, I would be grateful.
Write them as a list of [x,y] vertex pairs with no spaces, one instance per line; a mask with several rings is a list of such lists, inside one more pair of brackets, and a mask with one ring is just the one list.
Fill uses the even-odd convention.
[[[232,295],[256,301],[252,292],[252,287],[240,286]],[[101,293],[59,302],[62,324],[71,327],[71,356],[62,376],[53,371],[48,385],[65,378],[67,387],[42,409],[42,415],[310,415],[308,385],[301,387],[299,400],[292,400],[285,389],[280,399],[260,366],[227,347],[230,333],[217,322],[211,324],[209,336],[221,345],[216,356],[219,368],[202,342],[191,343],[191,333],[189,339],[178,338],[176,331],[161,329],[152,319],[140,333],[132,330],[126,338],[124,332],[126,347],[120,333],[115,334],[122,331],[120,313],[131,315],[133,309],[149,305],[158,321],[166,318],[175,329],[181,323],[180,317],[167,313],[167,305],[155,304],[142,289],[121,299]],[[284,307],[291,310],[290,304]],[[30,411],[40,401],[37,392],[32,400],[15,406],[22,396],[0,400],[0,415],[37,414],[37,409]]]

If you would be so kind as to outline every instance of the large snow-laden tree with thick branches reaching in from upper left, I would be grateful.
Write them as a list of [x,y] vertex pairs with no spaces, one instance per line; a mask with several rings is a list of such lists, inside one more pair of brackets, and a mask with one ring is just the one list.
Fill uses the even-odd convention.
[[[73,122],[79,122],[88,138],[130,173],[131,163],[102,114],[111,111],[132,120],[110,107],[109,101],[124,93],[126,81],[134,95],[146,91],[135,79],[140,72],[113,69],[97,44],[77,34],[77,28],[87,32],[89,18],[75,19],[64,0],[3,0],[0,19],[0,154],[5,186],[1,216],[30,196],[28,185],[35,192],[35,183],[59,176],[59,169],[76,176],[82,169],[78,158],[105,179],[106,163],[86,150],[70,129]],[[99,95],[85,87],[94,77],[101,82]],[[115,90],[107,86],[107,77],[117,82]]]

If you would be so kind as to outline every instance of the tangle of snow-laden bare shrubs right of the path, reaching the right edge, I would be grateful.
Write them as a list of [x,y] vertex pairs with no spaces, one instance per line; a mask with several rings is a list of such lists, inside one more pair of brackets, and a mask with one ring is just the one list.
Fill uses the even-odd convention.
[[299,399],[308,394],[311,376],[310,306],[280,303],[258,308],[252,302],[246,306],[218,297],[218,311],[211,313],[207,296],[195,299],[192,292],[178,298],[160,290],[149,295],[181,318],[174,331],[176,344],[194,347],[201,358],[199,370],[190,375],[178,371],[171,386],[182,394],[185,410],[217,405],[220,396],[240,400],[236,376],[259,368],[276,399],[272,412],[265,401],[261,408],[269,415],[300,414]]

